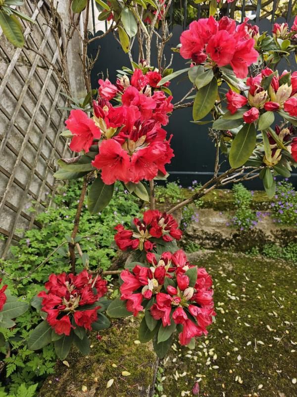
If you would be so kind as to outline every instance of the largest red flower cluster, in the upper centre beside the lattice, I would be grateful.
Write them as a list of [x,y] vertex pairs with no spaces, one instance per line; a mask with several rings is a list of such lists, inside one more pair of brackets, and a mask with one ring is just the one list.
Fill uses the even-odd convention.
[[[99,98],[93,104],[93,119],[82,110],[72,110],[66,121],[73,137],[70,148],[88,152],[98,145],[98,155],[92,162],[101,170],[106,185],[119,180],[138,183],[151,180],[159,172],[166,175],[165,164],[170,163],[173,150],[166,131],[168,114],[172,112],[172,96],[155,89],[162,76],[157,70],[146,74],[135,69],[128,76],[118,78],[116,84],[99,80]],[[165,85],[168,85],[166,83]],[[117,97],[120,106],[110,100]]]

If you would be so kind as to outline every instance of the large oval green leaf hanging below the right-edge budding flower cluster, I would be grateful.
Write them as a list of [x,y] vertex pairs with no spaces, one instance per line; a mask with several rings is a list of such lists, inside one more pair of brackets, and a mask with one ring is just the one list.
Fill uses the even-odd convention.
[[253,123],[245,124],[235,136],[229,154],[229,162],[232,168],[238,168],[245,164],[251,156],[256,145],[256,129]]

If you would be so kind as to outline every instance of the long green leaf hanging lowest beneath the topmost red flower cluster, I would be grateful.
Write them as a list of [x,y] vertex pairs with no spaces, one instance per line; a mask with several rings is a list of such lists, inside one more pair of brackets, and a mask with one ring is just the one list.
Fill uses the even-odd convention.
[[198,90],[194,106],[193,106],[193,119],[203,119],[213,108],[214,102],[218,94],[218,83],[215,77],[205,87]]

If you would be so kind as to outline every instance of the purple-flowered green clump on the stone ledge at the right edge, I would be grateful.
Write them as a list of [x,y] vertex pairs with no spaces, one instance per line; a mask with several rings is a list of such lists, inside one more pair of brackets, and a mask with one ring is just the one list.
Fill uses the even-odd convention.
[[275,222],[297,225],[297,194],[292,183],[277,182],[275,201],[270,204]]

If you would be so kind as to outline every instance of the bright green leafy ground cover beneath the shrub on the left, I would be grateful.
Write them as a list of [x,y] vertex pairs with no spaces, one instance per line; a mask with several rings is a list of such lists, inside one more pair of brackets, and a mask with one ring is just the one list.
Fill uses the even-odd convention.
[[[13,295],[20,296],[18,302],[23,308],[17,310],[24,310],[44,288],[50,273],[69,271],[68,241],[80,196],[80,183],[81,181],[70,181],[67,186],[61,187],[53,198],[52,206],[36,214],[36,220],[43,224],[43,228],[27,231],[19,245],[11,247],[11,255],[6,260],[0,261],[0,267],[7,273],[3,281],[8,284]],[[35,212],[33,206],[29,210]],[[140,216],[138,201],[124,191],[121,184],[115,185],[113,198],[102,213],[90,215],[86,200],[80,219],[80,236],[76,240],[79,241],[85,258],[88,257],[87,262],[91,269],[98,267],[106,269],[110,266],[115,255],[115,250],[110,248],[114,226],[120,222],[130,225],[133,216]],[[35,270],[63,242],[66,243],[43,266]],[[77,254],[77,270],[80,271],[82,268],[83,260]],[[37,301],[34,301],[34,307],[38,308]],[[101,313],[99,315],[103,316]],[[106,321],[108,322],[107,318]],[[24,343],[24,339],[28,340],[32,329],[39,323],[40,315],[33,309],[18,317],[13,329],[0,328],[5,340],[10,339],[11,346],[11,355],[7,358],[5,358],[7,345],[0,348],[0,359],[5,363],[3,371],[9,380],[5,388],[0,388],[0,397],[33,397],[36,395],[37,384],[41,384],[54,372],[56,354],[53,343],[37,352],[29,350]]]

